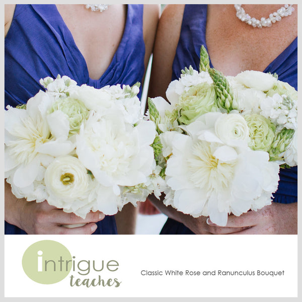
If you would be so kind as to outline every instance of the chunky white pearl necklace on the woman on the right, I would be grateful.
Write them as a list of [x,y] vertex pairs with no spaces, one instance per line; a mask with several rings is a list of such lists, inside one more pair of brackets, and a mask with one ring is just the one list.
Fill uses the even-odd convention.
[[236,16],[242,21],[249,25],[252,25],[253,27],[270,27],[272,26],[272,23],[276,23],[276,21],[280,21],[282,17],[290,16],[291,13],[294,11],[294,8],[292,7],[292,4],[288,5],[285,4],[283,7],[281,7],[277,12],[274,12],[269,15],[269,18],[262,17],[260,20],[257,20],[256,18],[251,18],[248,14],[246,14],[245,10],[241,7],[241,4],[235,4],[234,5],[236,9]]

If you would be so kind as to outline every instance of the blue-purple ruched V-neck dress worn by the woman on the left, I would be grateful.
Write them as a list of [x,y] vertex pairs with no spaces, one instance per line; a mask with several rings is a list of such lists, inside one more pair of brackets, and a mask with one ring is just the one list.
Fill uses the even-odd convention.
[[[127,6],[118,49],[102,77],[94,80],[55,5],[17,5],[5,38],[5,106],[26,103],[43,90],[41,78],[56,78],[58,74],[95,88],[141,83],[145,53],[142,16],[143,5]],[[97,224],[94,234],[117,234],[114,216],[106,216]],[[5,234],[26,233],[5,222]]]

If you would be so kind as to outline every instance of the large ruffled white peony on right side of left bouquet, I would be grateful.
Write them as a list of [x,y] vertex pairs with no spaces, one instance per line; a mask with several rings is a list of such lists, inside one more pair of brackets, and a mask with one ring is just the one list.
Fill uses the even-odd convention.
[[150,144],[155,136],[153,122],[141,120],[133,127],[123,121],[120,111],[108,111],[106,116],[94,113],[77,136],[77,154],[97,181],[117,195],[119,186],[145,183],[152,174]]

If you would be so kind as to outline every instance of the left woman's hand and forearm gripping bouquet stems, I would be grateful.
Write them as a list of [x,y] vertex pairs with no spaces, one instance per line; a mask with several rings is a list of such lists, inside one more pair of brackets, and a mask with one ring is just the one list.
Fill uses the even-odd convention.
[[[11,192],[10,185],[5,182],[5,219],[17,225],[27,234],[66,234],[86,235],[97,229],[98,222],[104,219],[102,212],[90,212],[85,219],[66,213],[62,209],[49,205],[45,200],[37,203],[16,198]],[[78,228],[65,228],[63,224],[86,223]]]

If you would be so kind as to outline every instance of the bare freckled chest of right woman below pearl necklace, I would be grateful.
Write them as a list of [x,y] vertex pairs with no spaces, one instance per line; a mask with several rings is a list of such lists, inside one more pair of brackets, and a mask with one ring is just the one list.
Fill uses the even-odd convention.
[[[276,10],[280,6],[276,5]],[[272,13],[272,8],[260,7],[261,12],[253,12],[253,7],[244,6],[257,19]],[[225,75],[263,71],[296,36],[296,10],[271,27],[253,28],[236,17],[234,5],[208,5],[206,44],[213,66]]]

